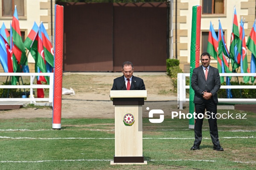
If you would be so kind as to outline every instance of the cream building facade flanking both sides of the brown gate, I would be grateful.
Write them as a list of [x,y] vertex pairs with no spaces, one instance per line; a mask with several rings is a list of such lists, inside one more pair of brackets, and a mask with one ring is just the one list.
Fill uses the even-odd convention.
[[[2,25],[4,22],[8,30],[10,30],[10,22],[12,21],[15,3],[17,5],[20,30],[23,39],[25,39],[31,31],[34,22],[36,22],[38,25],[40,22],[43,22],[44,27],[47,29],[49,38],[53,43],[55,0],[1,0],[0,25]],[[201,52],[207,50],[210,22],[212,22],[215,31],[218,32],[218,19],[221,21],[227,47],[230,47],[234,6],[236,6],[238,24],[240,24],[242,17],[245,19],[244,31],[246,41],[255,20],[255,0],[169,0],[168,3],[169,5],[167,5],[167,8],[170,10],[167,12],[167,14],[170,17],[168,17],[169,20],[166,21],[167,24],[164,23],[170,27],[168,40],[169,54],[167,54],[167,57],[179,59],[180,68],[185,73],[188,73],[190,68],[190,43],[193,6],[202,6]],[[250,68],[251,53],[249,50],[247,50],[247,57]],[[30,72],[34,72],[35,61],[30,54],[28,57],[28,62]],[[213,66],[217,66],[217,62],[214,59],[212,59],[211,63]],[[144,65],[144,67],[146,68],[147,66]],[[143,69],[141,71],[143,71]],[[2,67],[0,67],[0,72],[3,72]]]

